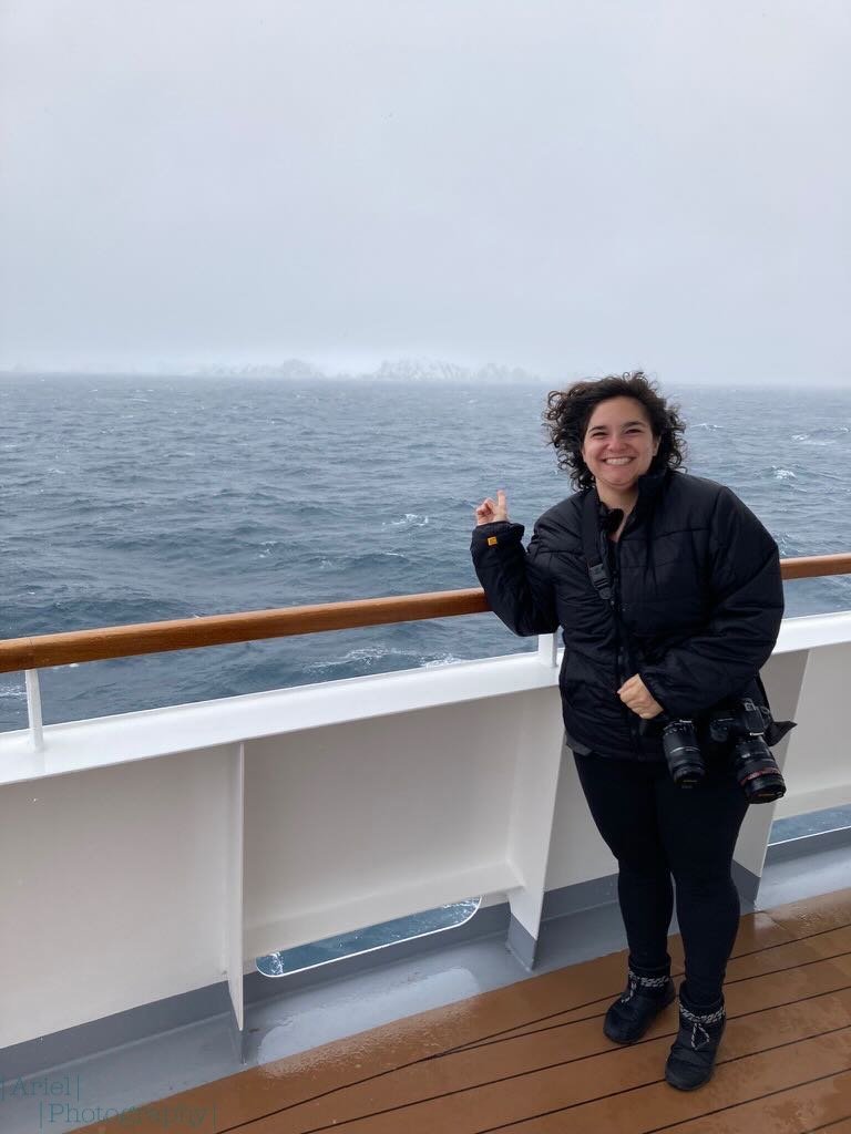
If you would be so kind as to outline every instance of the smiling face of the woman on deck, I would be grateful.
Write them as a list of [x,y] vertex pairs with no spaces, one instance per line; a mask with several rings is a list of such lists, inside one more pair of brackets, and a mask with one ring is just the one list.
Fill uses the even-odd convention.
[[622,507],[638,494],[639,476],[659,448],[647,411],[635,398],[607,398],[591,414],[582,459],[597,481],[600,499]]

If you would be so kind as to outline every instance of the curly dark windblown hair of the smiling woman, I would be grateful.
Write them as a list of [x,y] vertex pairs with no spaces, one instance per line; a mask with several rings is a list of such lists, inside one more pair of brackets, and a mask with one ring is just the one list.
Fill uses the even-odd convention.
[[563,468],[575,488],[589,489],[593,484],[588,465],[582,459],[582,442],[591,415],[608,398],[634,398],[644,407],[654,437],[659,438],[659,449],[650,471],[664,466],[679,468],[685,455],[683,432],[685,423],[680,407],[668,404],[641,370],[607,378],[574,382],[567,390],[550,390],[544,412],[547,443],[555,447],[558,467]]

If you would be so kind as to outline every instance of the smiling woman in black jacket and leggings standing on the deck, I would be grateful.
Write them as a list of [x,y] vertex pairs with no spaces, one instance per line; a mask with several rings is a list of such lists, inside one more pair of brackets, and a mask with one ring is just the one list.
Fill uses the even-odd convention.
[[540,517],[525,551],[505,492],[486,499],[473,562],[515,634],[564,629],[566,739],[617,858],[629,942],[626,988],[604,1023],[616,1043],[634,1043],[675,997],[673,875],[685,981],[665,1077],[693,1090],[713,1074],[725,1025],[740,915],[731,865],[748,801],[726,755],[707,759],[698,786],[677,787],[662,730],[739,697],[764,703],[759,669],[783,616],[777,545],[730,489],[675,471],[684,426],[641,372],[553,391],[545,418],[581,491]]

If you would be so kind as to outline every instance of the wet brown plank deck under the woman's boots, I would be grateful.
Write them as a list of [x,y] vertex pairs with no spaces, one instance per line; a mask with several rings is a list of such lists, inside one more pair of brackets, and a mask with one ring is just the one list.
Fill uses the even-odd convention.
[[[671,939],[682,972],[679,938]],[[742,919],[715,1077],[663,1078],[672,1005],[603,1034],[625,954],[363,1032],[151,1103],[89,1134],[851,1134],[851,889]]]

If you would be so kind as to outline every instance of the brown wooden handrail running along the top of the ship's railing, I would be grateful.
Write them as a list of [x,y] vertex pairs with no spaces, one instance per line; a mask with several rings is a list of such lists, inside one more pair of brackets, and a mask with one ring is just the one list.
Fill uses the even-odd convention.
[[[851,573],[851,553],[782,559],[781,569],[784,579],[844,575]],[[165,653],[169,650],[196,650],[234,642],[290,637],[296,634],[318,634],[322,631],[345,631],[357,626],[478,615],[487,610],[490,607],[485,592],[474,587],[41,634],[37,637],[0,641],[0,674],[43,669],[45,666],[68,666],[79,661],[103,661],[107,658],[135,658],[143,653]]]

